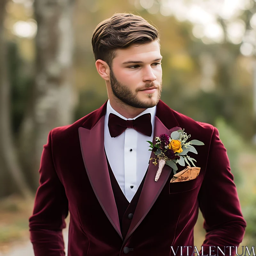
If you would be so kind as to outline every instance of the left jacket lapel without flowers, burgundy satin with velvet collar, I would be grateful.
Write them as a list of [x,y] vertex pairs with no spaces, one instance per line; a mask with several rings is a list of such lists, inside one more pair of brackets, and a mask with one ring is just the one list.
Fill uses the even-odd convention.
[[[86,116],[83,127],[78,128],[85,170],[93,191],[109,221],[122,237],[114,193],[111,187],[108,164],[104,152],[104,123],[107,101]],[[85,128],[84,128],[85,127]]]

